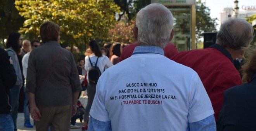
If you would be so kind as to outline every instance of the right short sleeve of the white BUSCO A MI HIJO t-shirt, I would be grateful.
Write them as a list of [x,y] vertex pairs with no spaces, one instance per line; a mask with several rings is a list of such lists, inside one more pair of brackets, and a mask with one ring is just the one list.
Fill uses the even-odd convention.
[[208,94],[199,78],[195,73],[192,77],[189,101],[189,123],[201,121],[208,116],[214,114],[213,106],[209,99]]

